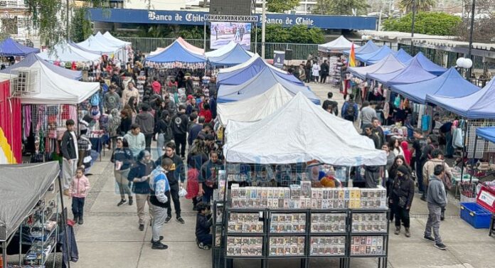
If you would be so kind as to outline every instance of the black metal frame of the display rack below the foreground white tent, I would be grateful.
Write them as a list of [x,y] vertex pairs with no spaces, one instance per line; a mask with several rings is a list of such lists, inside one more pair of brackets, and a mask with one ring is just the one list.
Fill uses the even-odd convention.
[[[218,202],[214,203],[214,215],[216,215]],[[223,205],[223,203],[222,203]],[[311,259],[339,259],[339,267],[340,268],[348,268],[351,265],[351,259],[353,258],[378,258],[378,268],[386,268],[387,267],[387,258],[388,258],[388,227],[389,227],[389,213],[388,209],[335,209],[335,210],[314,210],[314,209],[271,209],[271,208],[228,208],[227,206],[223,206],[224,214],[222,223],[217,223],[215,219],[215,225],[213,227],[213,241],[216,239],[215,230],[217,228],[221,229],[222,239],[220,240],[220,245],[215,245],[213,243],[213,268],[218,267],[233,267],[234,259],[259,259],[260,267],[269,268],[270,267],[270,259],[299,259],[301,268],[308,268],[309,261]],[[259,221],[263,224],[262,232],[243,232],[243,230],[231,231],[228,227],[228,219],[233,213],[251,213],[259,215]],[[271,228],[273,215],[283,215],[283,214],[299,214],[305,215],[304,220],[304,231],[275,231]],[[344,230],[331,230],[325,232],[316,232],[312,229],[312,216],[313,215],[345,215],[345,227]],[[353,215],[382,215],[385,218],[385,221],[380,223],[368,223],[368,225],[385,225],[385,229],[378,230],[379,227],[376,227],[376,230],[353,230]],[[215,217],[215,216],[214,216]],[[289,223],[287,223],[289,224]],[[262,238],[262,250],[260,256],[244,256],[244,255],[232,255],[228,253],[228,237],[261,237]],[[270,254],[270,238],[274,237],[304,237],[304,253],[303,254],[282,254],[282,255],[273,255]],[[336,237],[337,239],[345,239],[344,242],[344,250],[339,252],[333,252],[327,254],[324,252],[323,254],[314,254],[312,253],[312,238],[315,237]],[[339,238],[342,237],[342,238]],[[364,241],[365,245],[361,245],[363,250],[363,254],[353,254],[352,251],[352,242],[356,237],[365,237]],[[368,238],[369,237],[369,238]],[[382,245],[372,245],[373,239],[375,244],[377,237],[381,237]],[[356,238],[357,240],[357,238]],[[370,241],[370,245],[366,245],[366,243]],[[331,245],[331,247],[339,247],[339,245]],[[380,250],[383,253],[373,254],[372,248],[377,250],[377,247],[382,247]]]

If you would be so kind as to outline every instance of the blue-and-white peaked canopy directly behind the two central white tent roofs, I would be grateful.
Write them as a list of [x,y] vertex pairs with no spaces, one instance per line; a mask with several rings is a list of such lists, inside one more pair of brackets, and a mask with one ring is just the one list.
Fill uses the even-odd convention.
[[277,83],[280,83],[280,85],[287,89],[292,95],[296,95],[297,92],[302,92],[309,100],[315,104],[320,104],[319,97],[309,90],[309,87],[295,85],[292,82],[284,80],[282,77],[273,73],[270,68],[265,68],[265,70],[262,70],[241,85],[220,85],[217,100],[219,103],[245,100],[270,90],[270,88]]

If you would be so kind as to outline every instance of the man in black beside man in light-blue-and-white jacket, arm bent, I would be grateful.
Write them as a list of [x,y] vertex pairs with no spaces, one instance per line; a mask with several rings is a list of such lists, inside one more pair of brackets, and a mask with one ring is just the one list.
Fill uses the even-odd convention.
[[[179,189],[183,187],[183,183],[186,180],[186,168],[184,167],[184,162],[179,155],[175,153],[176,144],[174,142],[169,142],[165,146],[165,154],[162,159],[157,159],[156,164],[161,163],[163,159],[171,159],[174,164],[170,167],[169,173],[166,174],[166,177],[169,179],[170,185],[170,195],[172,201],[174,201],[174,209],[176,210],[176,220],[184,224],[186,223],[181,217],[181,201],[179,200]],[[169,223],[172,218],[172,208],[169,204],[167,206],[167,217],[165,219],[165,223]]]

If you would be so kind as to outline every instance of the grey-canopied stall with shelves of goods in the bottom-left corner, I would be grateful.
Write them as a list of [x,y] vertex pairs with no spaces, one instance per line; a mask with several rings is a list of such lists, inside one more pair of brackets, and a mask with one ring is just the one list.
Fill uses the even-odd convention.
[[[15,267],[46,267],[50,254],[69,250],[65,209],[60,191],[58,162],[1,165],[0,242],[1,267],[15,263],[8,254],[18,254]],[[70,237],[73,239],[73,237]],[[10,244],[10,245],[9,245]],[[14,245],[16,244],[16,245]],[[67,263],[68,259],[63,258]]]

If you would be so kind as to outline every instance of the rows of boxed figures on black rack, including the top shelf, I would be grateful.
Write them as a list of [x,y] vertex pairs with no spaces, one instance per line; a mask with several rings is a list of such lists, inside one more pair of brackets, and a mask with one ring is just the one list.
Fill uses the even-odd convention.
[[225,206],[213,203],[213,249],[223,252],[224,267],[233,259],[260,259],[261,267],[268,267],[267,259],[287,257],[301,259],[302,267],[312,258],[338,258],[340,267],[350,267],[353,257],[378,257],[378,267],[386,267],[385,201],[383,187],[312,188],[309,181],[279,188],[233,184]]

